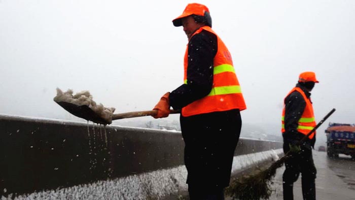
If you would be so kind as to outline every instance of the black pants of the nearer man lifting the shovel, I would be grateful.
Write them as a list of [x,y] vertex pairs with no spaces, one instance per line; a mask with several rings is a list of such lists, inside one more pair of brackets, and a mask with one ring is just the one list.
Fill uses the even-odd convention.
[[180,118],[190,199],[224,199],[239,140],[239,110]]

